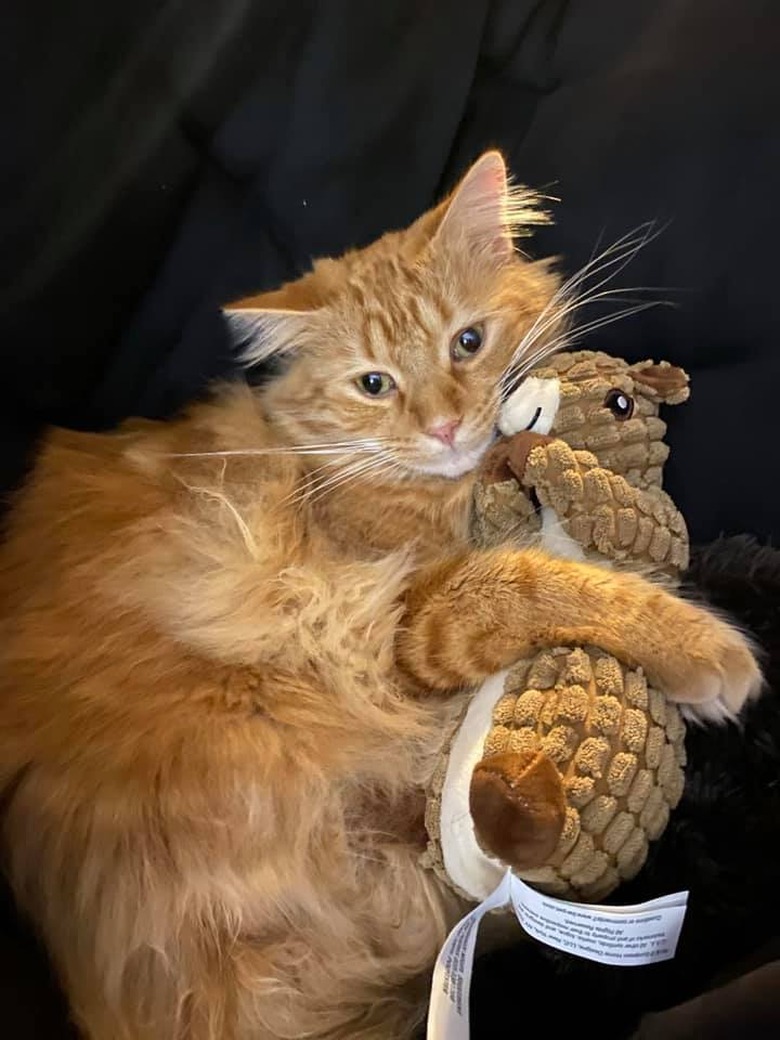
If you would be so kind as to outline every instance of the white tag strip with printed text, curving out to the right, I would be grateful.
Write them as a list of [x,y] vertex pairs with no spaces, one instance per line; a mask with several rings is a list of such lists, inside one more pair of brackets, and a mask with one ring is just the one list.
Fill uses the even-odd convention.
[[629,966],[671,960],[687,908],[687,892],[627,907],[566,903],[512,879],[512,905],[540,942],[600,964]]

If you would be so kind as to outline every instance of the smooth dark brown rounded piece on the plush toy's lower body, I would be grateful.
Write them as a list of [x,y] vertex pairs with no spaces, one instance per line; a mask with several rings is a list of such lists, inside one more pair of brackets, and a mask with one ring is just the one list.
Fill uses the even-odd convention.
[[517,869],[545,863],[566,820],[561,774],[542,752],[502,752],[483,758],[469,792],[483,849]]

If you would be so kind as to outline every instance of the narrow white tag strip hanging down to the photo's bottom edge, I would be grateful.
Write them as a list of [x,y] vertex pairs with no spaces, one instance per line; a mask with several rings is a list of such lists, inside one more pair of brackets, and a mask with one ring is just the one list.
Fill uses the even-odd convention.
[[512,900],[512,874],[504,874],[498,887],[459,921],[441,947],[434,966],[427,1040],[469,1040],[469,991],[479,921],[486,913]]

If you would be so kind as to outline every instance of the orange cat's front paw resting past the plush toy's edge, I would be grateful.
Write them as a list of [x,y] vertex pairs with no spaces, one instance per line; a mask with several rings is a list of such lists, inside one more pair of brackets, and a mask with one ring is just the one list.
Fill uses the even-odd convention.
[[705,612],[682,633],[687,667],[666,686],[670,700],[696,722],[734,719],[761,692],[763,678],[750,642]]

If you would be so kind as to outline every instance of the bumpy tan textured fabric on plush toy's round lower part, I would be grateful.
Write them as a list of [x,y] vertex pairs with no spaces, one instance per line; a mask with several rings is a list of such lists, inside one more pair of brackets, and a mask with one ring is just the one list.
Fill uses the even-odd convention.
[[520,876],[551,895],[589,902],[634,877],[682,795],[684,733],[677,708],[603,651],[547,650],[518,665],[485,754],[543,750],[567,796],[549,864]]

